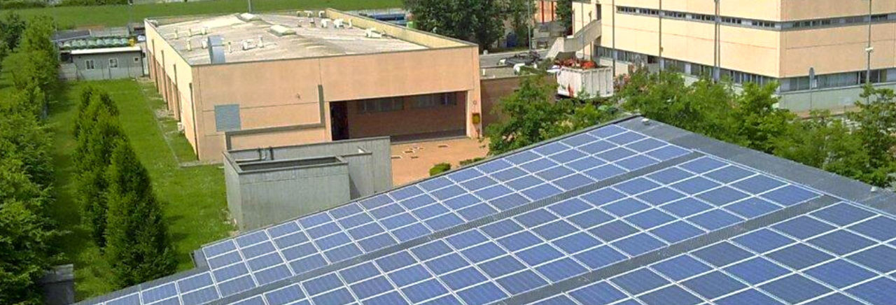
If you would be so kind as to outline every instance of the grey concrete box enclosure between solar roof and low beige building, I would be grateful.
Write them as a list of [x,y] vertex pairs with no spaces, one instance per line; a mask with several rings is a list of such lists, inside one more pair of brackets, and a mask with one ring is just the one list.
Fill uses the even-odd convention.
[[223,153],[230,215],[252,230],[392,189],[388,137]]

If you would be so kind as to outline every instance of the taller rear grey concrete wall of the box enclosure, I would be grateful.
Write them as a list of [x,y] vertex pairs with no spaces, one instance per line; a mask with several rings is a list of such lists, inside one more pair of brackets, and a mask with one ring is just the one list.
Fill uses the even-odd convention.
[[[365,153],[370,156],[361,157]],[[280,148],[231,150],[228,154],[233,160],[340,156],[349,162],[352,199],[392,189],[392,150],[389,137],[339,140]]]

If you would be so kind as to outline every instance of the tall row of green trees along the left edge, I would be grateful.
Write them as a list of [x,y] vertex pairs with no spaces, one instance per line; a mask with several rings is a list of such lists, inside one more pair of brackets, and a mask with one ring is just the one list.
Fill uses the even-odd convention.
[[41,303],[37,283],[58,260],[50,242],[59,232],[47,215],[52,137],[41,119],[56,66],[28,66],[55,63],[52,27],[47,18],[0,16],[0,72],[13,80],[0,96],[0,304]]

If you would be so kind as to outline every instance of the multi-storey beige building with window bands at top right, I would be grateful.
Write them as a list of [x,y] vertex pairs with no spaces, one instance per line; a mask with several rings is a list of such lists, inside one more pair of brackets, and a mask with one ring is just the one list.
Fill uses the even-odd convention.
[[615,54],[617,64],[694,76],[718,63],[736,83],[779,81],[781,105],[796,110],[855,101],[867,50],[871,82],[896,88],[894,0],[874,0],[870,12],[869,0],[577,0],[573,28],[590,31],[580,50],[602,63]]

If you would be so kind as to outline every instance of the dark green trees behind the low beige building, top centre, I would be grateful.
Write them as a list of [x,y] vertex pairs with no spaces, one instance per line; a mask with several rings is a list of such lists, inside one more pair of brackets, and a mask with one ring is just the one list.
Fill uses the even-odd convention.
[[504,35],[504,21],[510,21],[518,38],[528,38],[532,5],[531,0],[404,0],[419,30],[475,42],[483,49]]

